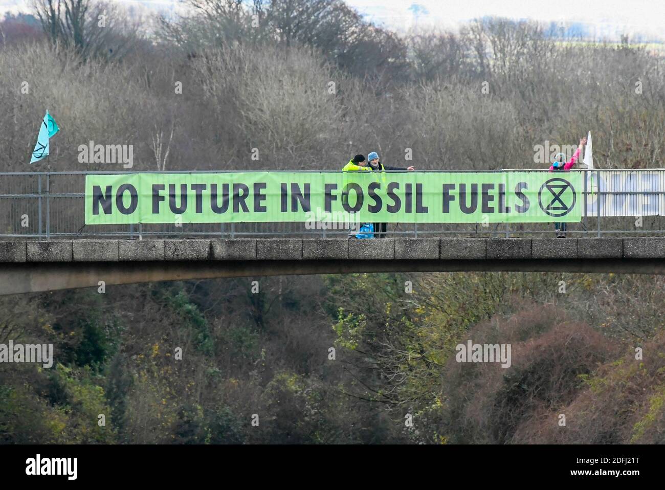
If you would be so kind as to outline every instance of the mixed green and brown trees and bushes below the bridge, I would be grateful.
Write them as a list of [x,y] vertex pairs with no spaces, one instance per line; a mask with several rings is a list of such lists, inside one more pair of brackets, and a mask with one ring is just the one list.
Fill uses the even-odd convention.
[[[575,309],[585,295],[606,294],[615,277],[565,275],[567,295],[557,292],[560,280],[334,275],[284,297],[277,292],[283,284],[267,280],[259,309],[257,295],[246,291],[219,295],[235,291],[235,280],[196,284],[196,294],[188,283],[132,287],[128,297],[139,299],[125,300],[127,310],[85,295],[63,293],[62,302],[49,295],[35,313],[38,326],[27,324],[23,335],[53,338],[67,362],[52,370],[22,366],[20,376],[0,370],[0,441],[532,442],[557,437],[539,421],[562,410],[582,414],[567,431],[579,440],[654,440],[664,405],[662,389],[651,385],[665,371],[665,356],[617,359],[607,343],[616,343],[617,330],[604,326],[614,320],[602,317],[609,310]],[[571,315],[598,322],[606,336],[571,324]],[[461,366],[455,347],[467,338],[511,342],[513,366]],[[331,345],[334,361],[321,354]],[[182,361],[174,358],[176,347]],[[630,403],[630,393],[642,400]],[[598,412],[596,400],[609,398],[621,407],[616,425],[597,439],[575,432],[585,410]],[[259,428],[251,428],[253,413]],[[406,413],[414,428],[404,428]],[[99,414],[106,428],[96,425]]]

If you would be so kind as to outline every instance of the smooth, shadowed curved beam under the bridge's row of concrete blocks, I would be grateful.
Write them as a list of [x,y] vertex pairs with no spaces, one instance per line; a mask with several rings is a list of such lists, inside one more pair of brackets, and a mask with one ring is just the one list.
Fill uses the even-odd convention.
[[665,274],[664,259],[589,260],[301,260],[235,262],[23,263],[0,265],[0,295],[82,287],[274,275],[377,272],[585,272]]

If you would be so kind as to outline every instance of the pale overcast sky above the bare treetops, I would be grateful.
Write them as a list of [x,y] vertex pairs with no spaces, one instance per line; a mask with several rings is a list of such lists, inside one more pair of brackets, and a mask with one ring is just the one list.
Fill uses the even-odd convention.
[[[177,9],[177,0],[112,0],[155,9]],[[376,23],[398,31],[414,24],[454,28],[469,19],[497,15],[537,21],[579,21],[599,37],[643,33],[665,37],[665,0],[347,0]],[[0,13],[27,10],[31,0],[0,0]],[[415,6],[415,8],[414,8]],[[420,8],[418,8],[420,7]]]

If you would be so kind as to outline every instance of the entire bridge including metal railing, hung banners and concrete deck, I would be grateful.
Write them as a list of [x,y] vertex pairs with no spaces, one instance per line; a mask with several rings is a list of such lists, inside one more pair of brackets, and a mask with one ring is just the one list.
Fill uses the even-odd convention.
[[[557,190],[561,185],[551,184],[547,170],[392,174],[390,181],[394,181],[395,189],[400,182],[404,184],[402,201],[406,209],[401,214],[388,215],[392,219],[373,219],[401,223],[390,224],[390,238],[371,240],[348,240],[348,226],[323,226],[319,217],[311,221],[307,213],[300,212],[305,209],[302,199],[311,211],[340,201],[326,190],[335,183],[341,187],[336,174],[319,174],[322,173],[0,173],[0,295],[98,287],[100,281],[120,285],[390,271],[665,271],[662,169],[569,172],[565,174],[570,181],[568,187],[563,187],[568,189],[565,195]],[[281,190],[287,189],[283,181],[289,179],[311,184],[311,202],[305,197],[305,185],[302,189],[296,185],[300,190],[293,193],[292,189],[289,199],[288,192]],[[408,179],[413,182],[407,182]],[[561,176],[555,180],[561,180]],[[192,184],[195,181],[198,184]],[[333,184],[327,184],[329,181]],[[481,181],[496,185],[478,185]],[[233,197],[229,197],[231,187],[224,187],[229,182],[246,191],[233,191]],[[455,182],[459,184],[457,190]],[[468,196],[462,195],[465,182],[468,189],[475,189],[469,194],[468,205],[475,202],[476,207],[472,215],[464,215],[471,213],[470,208],[462,212],[460,207],[462,201],[467,203]],[[167,183],[169,189],[173,187],[168,194]],[[552,190],[548,183],[557,187],[552,195],[548,194]],[[226,188],[227,197],[217,199],[213,185],[221,189],[221,195]],[[372,185],[366,189],[366,205],[372,202]],[[186,191],[177,201],[175,189],[182,187]],[[487,190],[490,188],[494,194]],[[116,189],[113,195],[112,189]],[[206,199],[201,189],[210,189]],[[252,199],[247,197],[250,189]],[[515,189],[513,195],[507,189]],[[241,195],[242,192],[245,193]],[[547,197],[545,201],[543,195]],[[138,206],[138,199],[147,201]],[[391,199],[395,206],[400,201]],[[389,201],[386,199],[386,203]],[[184,207],[187,202],[189,215]],[[529,213],[527,202],[532,204]],[[565,204],[565,211],[560,211],[561,207],[549,209],[553,202],[557,206]],[[215,211],[200,215],[203,203],[214,205]],[[288,214],[300,207],[303,209],[295,213],[296,217]],[[569,220],[569,237],[551,238],[553,222],[573,209],[577,214],[575,220]],[[418,221],[413,219],[412,211],[428,211],[433,216]],[[138,215],[130,216],[134,212]],[[239,215],[226,216],[225,212]],[[449,214],[453,212],[457,214]],[[339,224],[333,221],[333,225]]]

